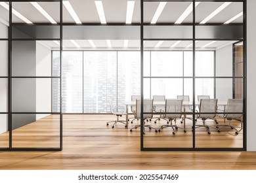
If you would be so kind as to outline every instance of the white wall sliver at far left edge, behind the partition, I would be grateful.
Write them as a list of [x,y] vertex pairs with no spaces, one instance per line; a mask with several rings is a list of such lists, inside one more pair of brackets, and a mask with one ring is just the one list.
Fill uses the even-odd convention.
[[[0,22],[0,38],[8,38],[7,25]],[[0,41],[0,76],[8,76],[8,41]],[[0,112],[7,112],[8,80],[0,79]],[[7,114],[0,114],[0,133],[8,129]]]

